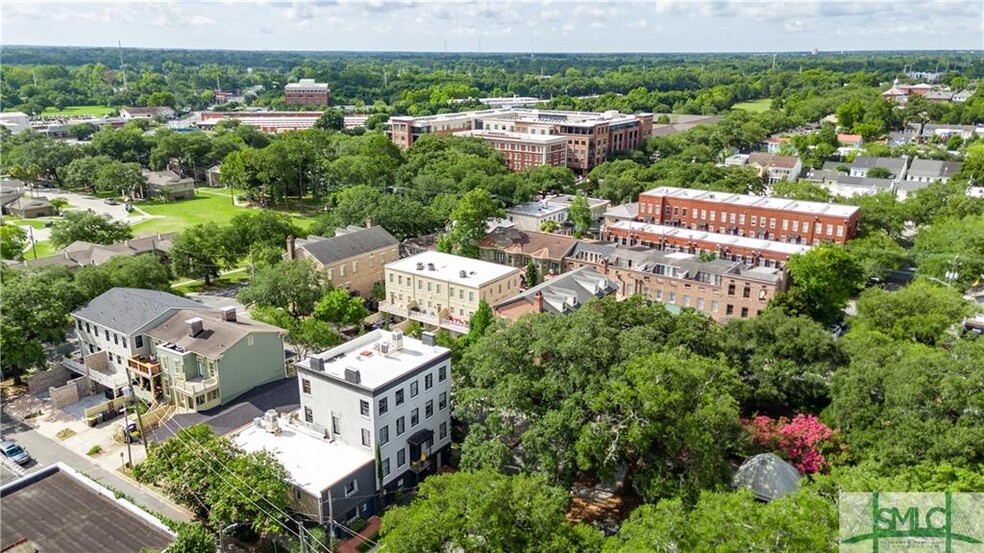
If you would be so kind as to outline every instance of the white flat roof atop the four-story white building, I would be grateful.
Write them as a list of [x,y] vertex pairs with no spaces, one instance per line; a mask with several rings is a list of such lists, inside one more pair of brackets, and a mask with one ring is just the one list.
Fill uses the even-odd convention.
[[[376,346],[389,344],[390,353],[384,354]],[[416,338],[403,336],[403,349],[393,351],[393,333],[388,330],[374,330],[368,334],[345,342],[297,363],[311,369],[311,358],[324,360],[324,374],[338,380],[345,380],[345,369],[359,371],[358,386],[370,390],[402,378],[418,368],[451,351],[441,346],[425,346]]]

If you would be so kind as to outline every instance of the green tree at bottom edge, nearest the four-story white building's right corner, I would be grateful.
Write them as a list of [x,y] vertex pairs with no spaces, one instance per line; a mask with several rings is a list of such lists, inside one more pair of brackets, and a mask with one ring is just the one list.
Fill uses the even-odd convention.
[[[436,475],[383,516],[387,551],[597,551],[601,534],[564,514],[567,492],[536,476],[481,471]],[[503,509],[503,505],[512,505]]]

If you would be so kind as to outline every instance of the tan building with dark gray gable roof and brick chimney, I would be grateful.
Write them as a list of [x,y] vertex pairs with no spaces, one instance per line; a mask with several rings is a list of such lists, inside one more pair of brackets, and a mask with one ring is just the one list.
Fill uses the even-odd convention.
[[287,258],[314,261],[335,288],[363,298],[383,282],[384,266],[400,257],[400,242],[379,226],[337,229],[333,238],[309,236],[287,241]]

